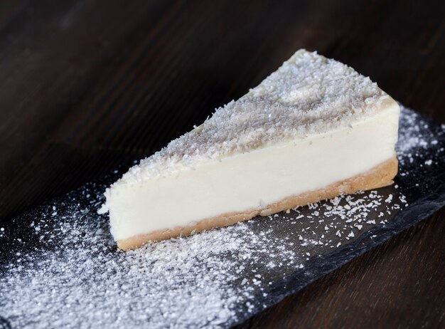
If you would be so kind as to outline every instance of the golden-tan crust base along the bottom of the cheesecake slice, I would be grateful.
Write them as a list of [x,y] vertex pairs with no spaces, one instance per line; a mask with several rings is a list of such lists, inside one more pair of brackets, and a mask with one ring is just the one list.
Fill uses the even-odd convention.
[[390,160],[377,164],[377,166],[363,174],[344,179],[343,181],[330,184],[316,191],[304,192],[302,194],[286,197],[279,202],[268,204],[261,209],[250,209],[243,212],[230,212],[208,219],[202,219],[188,226],[178,226],[174,229],[162,229],[147,234],[139,234],[128,239],[117,241],[117,247],[124,251],[132,250],[143,246],[149,241],[161,241],[177,236],[188,236],[218,227],[230,226],[239,221],[247,221],[254,216],[268,216],[279,211],[305,206],[324,199],[331,199],[340,194],[352,194],[367,189],[377,189],[392,184],[392,179],[397,174],[397,156]]

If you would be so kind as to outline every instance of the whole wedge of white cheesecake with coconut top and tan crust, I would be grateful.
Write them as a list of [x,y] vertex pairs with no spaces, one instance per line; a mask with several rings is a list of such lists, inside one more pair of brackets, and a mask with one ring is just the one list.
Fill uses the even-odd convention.
[[297,51],[112,184],[120,249],[392,184],[400,108],[353,68]]

